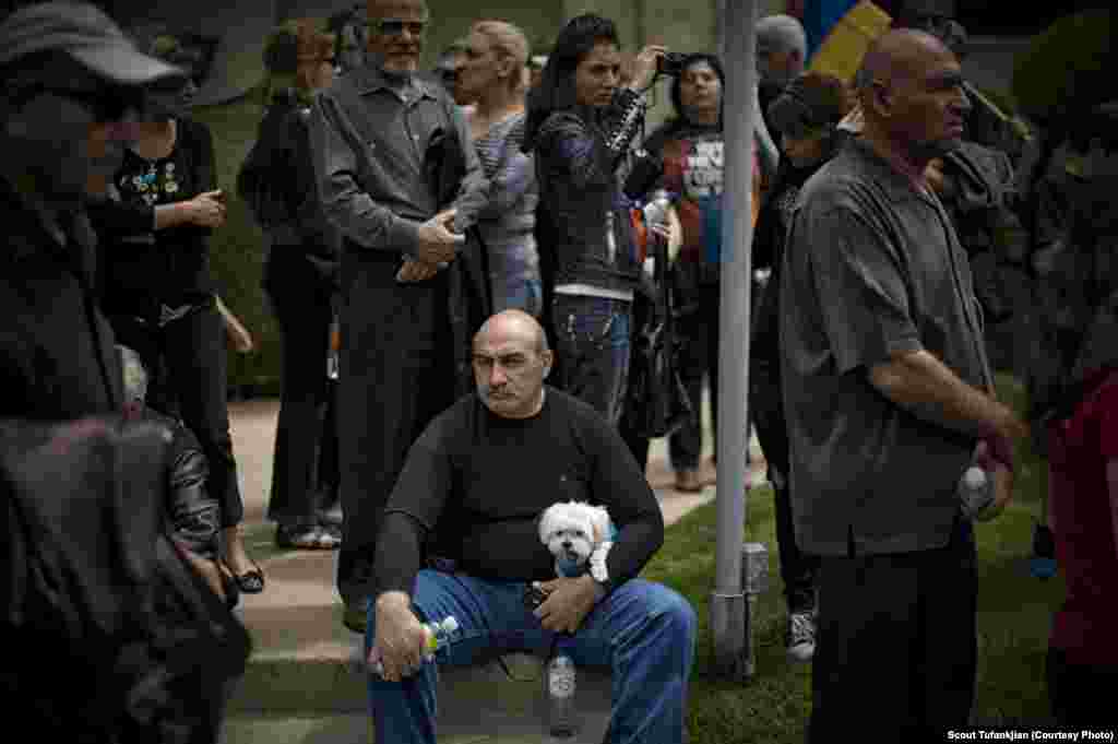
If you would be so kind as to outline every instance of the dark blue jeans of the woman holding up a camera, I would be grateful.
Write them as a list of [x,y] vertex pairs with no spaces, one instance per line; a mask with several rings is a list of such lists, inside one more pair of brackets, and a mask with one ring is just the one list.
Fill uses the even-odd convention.
[[556,294],[552,303],[559,387],[613,426],[620,421],[628,386],[632,305],[572,294]]

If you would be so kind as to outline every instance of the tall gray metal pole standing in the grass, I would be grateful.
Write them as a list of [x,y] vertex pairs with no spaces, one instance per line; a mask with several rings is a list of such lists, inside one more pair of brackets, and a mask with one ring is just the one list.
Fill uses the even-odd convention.
[[[752,674],[749,603],[742,581],[746,521],[747,392],[749,390],[750,201],[754,178],[754,87],[757,85],[757,0],[729,0],[723,11],[726,59],[724,191],[719,308],[718,543],[710,597],[714,667],[738,679]],[[756,548],[749,546],[750,557]],[[752,561],[750,561],[752,563]]]

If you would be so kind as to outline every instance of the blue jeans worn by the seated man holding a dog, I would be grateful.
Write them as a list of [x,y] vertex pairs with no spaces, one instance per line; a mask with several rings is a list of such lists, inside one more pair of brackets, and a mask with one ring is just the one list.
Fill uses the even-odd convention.
[[[555,633],[524,608],[523,582],[491,582],[423,569],[411,604],[421,622],[454,615],[459,630],[411,677],[388,682],[369,675],[369,701],[378,742],[435,743],[438,666],[473,666],[496,653],[544,654]],[[376,638],[376,610],[369,603],[366,654]],[[613,715],[606,741],[613,744],[679,744],[683,741],[688,679],[694,660],[698,622],[678,593],[639,578],[618,586],[582,621],[563,648],[576,667],[613,671]]]

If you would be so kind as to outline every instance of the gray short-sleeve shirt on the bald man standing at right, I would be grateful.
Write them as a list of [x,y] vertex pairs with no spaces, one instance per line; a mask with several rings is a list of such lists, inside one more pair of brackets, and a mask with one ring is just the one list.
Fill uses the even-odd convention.
[[804,186],[780,288],[796,540],[845,555],[942,547],[974,437],[887,399],[869,370],[925,349],[989,376],[966,253],[942,205],[854,140]]

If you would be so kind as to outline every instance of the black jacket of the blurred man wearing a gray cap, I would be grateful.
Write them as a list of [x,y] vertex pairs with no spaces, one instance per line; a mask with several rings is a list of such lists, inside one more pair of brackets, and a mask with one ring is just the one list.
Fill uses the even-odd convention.
[[88,220],[74,215],[64,246],[2,178],[0,215],[0,418],[116,413],[123,378],[97,309]]

